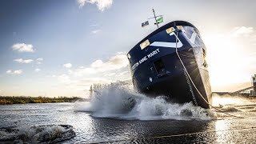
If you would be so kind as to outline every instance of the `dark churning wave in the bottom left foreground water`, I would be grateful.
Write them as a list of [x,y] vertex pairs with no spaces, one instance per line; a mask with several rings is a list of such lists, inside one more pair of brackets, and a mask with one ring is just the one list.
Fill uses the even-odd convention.
[[75,137],[73,126],[46,125],[22,128],[0,128],[0,142],[56,143]]

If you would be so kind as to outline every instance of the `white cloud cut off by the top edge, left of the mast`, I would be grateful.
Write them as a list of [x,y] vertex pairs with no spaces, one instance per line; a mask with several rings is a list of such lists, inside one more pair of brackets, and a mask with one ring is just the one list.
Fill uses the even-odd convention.
[[104,11],[112,6],[112,0],[78,0],[79,7],[83,7],[86,3],[96,4],[98,10]]

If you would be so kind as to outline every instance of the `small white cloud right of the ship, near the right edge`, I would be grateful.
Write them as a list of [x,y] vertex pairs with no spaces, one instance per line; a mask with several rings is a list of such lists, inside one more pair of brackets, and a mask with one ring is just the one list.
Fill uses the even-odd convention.
[[234,37],[238,37],[238,36],[250,36],[250,34],[254,33],[254,28],[253,27],[246,27],[246,26],[238,26],[235,27],[232,30],[232,35]]

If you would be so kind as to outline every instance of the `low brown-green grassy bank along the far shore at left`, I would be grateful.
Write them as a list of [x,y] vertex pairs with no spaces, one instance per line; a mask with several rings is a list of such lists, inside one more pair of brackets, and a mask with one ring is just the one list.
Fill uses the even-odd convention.
[[75,102],[75,101],[86,101],[84,98],[46,98],[46,97],[10,97],[0,96],[0,105],[11,105],[11,104],[22,104],[22,103],[52,103],[52,102]]

